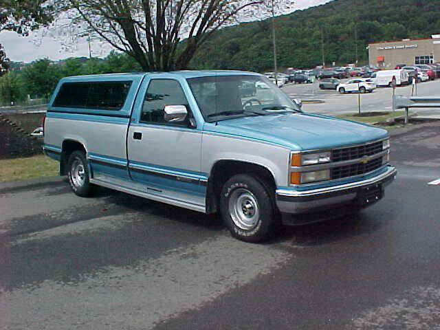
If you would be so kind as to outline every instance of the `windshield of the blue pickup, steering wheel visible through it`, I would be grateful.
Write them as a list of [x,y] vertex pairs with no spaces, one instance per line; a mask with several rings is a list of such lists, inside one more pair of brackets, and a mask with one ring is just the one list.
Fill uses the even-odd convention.
[[265,76],[199,77],[188,84],[207,122],[300,111]]

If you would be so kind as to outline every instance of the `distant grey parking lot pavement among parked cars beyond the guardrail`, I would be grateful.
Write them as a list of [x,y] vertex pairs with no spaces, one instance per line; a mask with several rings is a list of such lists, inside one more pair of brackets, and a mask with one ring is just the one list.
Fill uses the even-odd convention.
[[[347,81],[341,80],[341,81]],[[304,111],[311,113],[323,113],[337,115],[340,113],[358,112],[358,94],[339,94],[337,91],[319,89],[319,83],[313,84],[287,84],[283,91],[291,98],[301,100],[322,100],[323,103],[305,103]],[[397,87],[396,95],[411,96],[412,85]],[[417,96],[438,96],[440,98],[440,79],[417,84]],[[361,94],[361,111],[392,111],[393,110],[393,89],[379,87],[373,93]],[[417,113],[432,113],[432,109],[417,109]],[[439,113],[439,109],[435,110]]]

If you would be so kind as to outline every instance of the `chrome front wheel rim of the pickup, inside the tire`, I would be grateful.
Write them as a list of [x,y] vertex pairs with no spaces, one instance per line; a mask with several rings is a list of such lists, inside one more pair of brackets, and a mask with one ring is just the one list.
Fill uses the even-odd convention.
[[243,230],[252,230],[260,219],[259,203],[250,190],[237,188],[229,197],[229,213],[235,225]]

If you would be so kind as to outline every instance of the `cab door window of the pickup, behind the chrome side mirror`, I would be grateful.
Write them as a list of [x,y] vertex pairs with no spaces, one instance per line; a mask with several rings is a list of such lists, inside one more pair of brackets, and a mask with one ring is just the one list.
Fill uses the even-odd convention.
[[177,80],[154,79],[151,80],[146,90],[144,104],[140,115],[140,122],[152,124],[169,124],[173,126],[188,126],[185,122],[170,123],[164,120],[164,109],[166,105],[184,105],[190,109],[184,91]]

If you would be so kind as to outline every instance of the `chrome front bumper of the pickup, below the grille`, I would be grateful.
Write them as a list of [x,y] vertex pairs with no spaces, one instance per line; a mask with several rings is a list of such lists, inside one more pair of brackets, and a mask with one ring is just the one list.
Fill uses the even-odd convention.
[[316,212],[347,203],[369,206],[382,198],[384,186],[391,184],[396,173],[393,166],[387,166],[386,171],[380,175],[349,184],[303,191],[278,189],[276,205],[281,212],[290,214]]

